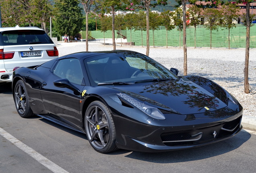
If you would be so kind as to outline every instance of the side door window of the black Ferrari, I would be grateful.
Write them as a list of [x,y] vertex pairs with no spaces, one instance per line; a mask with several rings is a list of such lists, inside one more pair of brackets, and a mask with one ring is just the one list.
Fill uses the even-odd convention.
[[80,62],[75,58],[59,60],[58,64],[53,69],[53,73],[75,84],[81,85],[83,81],[83,72]]

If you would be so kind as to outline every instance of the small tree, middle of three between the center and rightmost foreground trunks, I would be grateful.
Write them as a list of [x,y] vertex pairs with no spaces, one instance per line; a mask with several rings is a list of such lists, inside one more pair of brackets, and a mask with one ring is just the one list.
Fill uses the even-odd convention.
[[204,15],[204,26],[210,30],[210,48],[212,48],[212,31],[218,30],[221,13],[216,8],[205,8],[202,14]]

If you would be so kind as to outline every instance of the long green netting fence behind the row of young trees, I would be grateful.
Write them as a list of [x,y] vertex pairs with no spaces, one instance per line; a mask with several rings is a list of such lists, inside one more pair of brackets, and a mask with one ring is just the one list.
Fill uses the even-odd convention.
[[[115,37],[119,37],[115,32]],[[187,32],[187,46],[194,47],[194,27],[188,27]],[[153,46],[153,31],[149,32],[150,46]],[[168,34],[168,46],[182,46],[183,32],[179,32],[177,29],[173,29],[167,32]],[[103,32],[91,31],[89,34],[93,38],[103,38]],[[127,42],[130,42],[130,30],[122,30],[122,35],[127,36]],[[83,38],[85,38],[85,32],[82,32]],[[146,46],[146,31],[132,30],[132,42],[135,42],[136,46]],[[111,30],[105,32],[105,38],[112,38]],[[166,30],[163,26],[160,30],[154,31],[154,44],[155,46],[166,46]],[[246,46],[246,27],[241,24],[237,24],[235,28],[230,29],[230,47],[231,48],[245,48]],[[196,27],[196,47],[210,47],[210,30],[204,28],[203,25]],[[212,31],[212,47],[228,47],[228,30],[219,28]],[[250,48],[256,48],[256,26],[250,28]]]

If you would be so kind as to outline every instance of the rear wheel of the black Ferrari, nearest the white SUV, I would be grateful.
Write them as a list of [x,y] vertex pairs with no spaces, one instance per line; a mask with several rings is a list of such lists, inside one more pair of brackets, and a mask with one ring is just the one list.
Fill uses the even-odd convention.
[[23,118],[29,118],[33,116],[33,111],[29,105],[29,97],[27,95],[27,89],[22,80],[19,80],[15,84],[14,88],[14,103],[19,115]]

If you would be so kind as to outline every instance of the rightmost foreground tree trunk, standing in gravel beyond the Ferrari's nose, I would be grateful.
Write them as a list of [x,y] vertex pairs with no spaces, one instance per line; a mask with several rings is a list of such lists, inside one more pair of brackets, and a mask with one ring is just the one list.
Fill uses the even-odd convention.
[[244,92],[250,93],[249,82],[248,82],[248,71],[249,71],[249,48],[250,48],[250,3],[246,4],[246,58],[244,65]]

